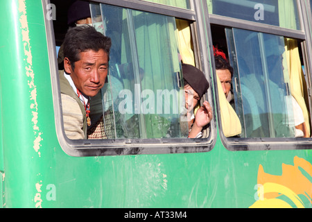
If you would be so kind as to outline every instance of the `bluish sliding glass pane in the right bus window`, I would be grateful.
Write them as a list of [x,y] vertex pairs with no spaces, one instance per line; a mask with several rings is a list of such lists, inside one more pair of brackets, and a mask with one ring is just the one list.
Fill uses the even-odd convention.
[[227,28],[241,137],[295,137],[284,37]]

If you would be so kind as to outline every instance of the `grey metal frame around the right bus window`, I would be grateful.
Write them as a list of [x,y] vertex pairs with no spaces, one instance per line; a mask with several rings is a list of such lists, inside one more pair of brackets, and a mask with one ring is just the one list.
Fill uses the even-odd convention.
[[[242,19],[235,19],[231,17],[224,17],[220,15],[209,14],[209,24],[223,26],[224,28],[241,28],[248,31],[257,31],[261,33],[268,33],[273,35],[280,35],[283,37],[290,37],[302,41],[302,54],[304,57],[304,67],[306,67],[307,76],[311,80],[312,67],[312,27],[309,26],[312,22],[311,10],[307,9],[309,2],[304,0],[297,0],[298,14],[300,17],[301,31],[289,28],[281,28],[279,26],[272,26],[268,24],[259,24],[257,22],[245,21]],[[212,45],[212,38],[210,38]],[[216,76],[216,69],[214,69],[214,76]],[[216,78],[214,78],[214,85],[217,85]],[[311,108],[311,81],[306,84],[309,93],[309,110]],[[218,89],[215,88],[216,101],[218,101]],[[220,104],[217,103],[217,108],[220,110]],[[225,148],[229,151],[267,151],[267,150],[294,150],[294,149],[308,149],[312,148],[312,138],[240,138],[240,137],[225,137],[223,135],[222,126],[220,123],[220,113],[217,113],[218,128],[220,132],[220,139]],[[310,119],[311,124],[311,119]]]

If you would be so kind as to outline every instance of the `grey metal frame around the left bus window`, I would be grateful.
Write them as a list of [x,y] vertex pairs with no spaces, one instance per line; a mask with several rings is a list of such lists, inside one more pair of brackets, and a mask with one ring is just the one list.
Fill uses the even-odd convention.
[[[143,10],[160,15],[169,15],[178,19],[187,19],[192,22],[193,39],[197,41],[196,49],[200,50],[198,55],[199,68],[204,72],[207,80],[211,83],[211,69],[209,66],[209,49],[205,30],[209,28],[205,21],[205,15],[202,13],[200,3],[191,0],[192,10],[164,6],[158,3],[138,0],[94,0],[93,3],[106,3],[123,8]],[[44,15],[47,15],[47,5],[49,0],[42,0]],[[207,12],[207,4],[206,10]],[[197,12],[197,13],[196,13]],[[60,98],[60,83],[58,79],[57,54],[55,50],[55,39],[53,23],[49,19],[46,22],[46,40],[49,51],[50,73],[52,83],[53,104],[55,110],[55,128],[60,146],[68,155],[74,157],[83,156],[102,156],[102,155],[139,155],[139,154],[164,154],[164,153],[200,153],[211,151],[216,143],[216,115],[210,123],[209,137],[205,139],[188,139],[188,138],[162,138],[162,139],[68,139],[64,133],[62,121],[62,106]],[[195,33],[194,33],[195,32]],[[194,36],[194,34],[196,36]],[[200,40],[198,40],[200,38]],[[211,84],[210,84],[211,85]],[[214,104],[212,89],[209,87],[205,95],[209,103]]]

